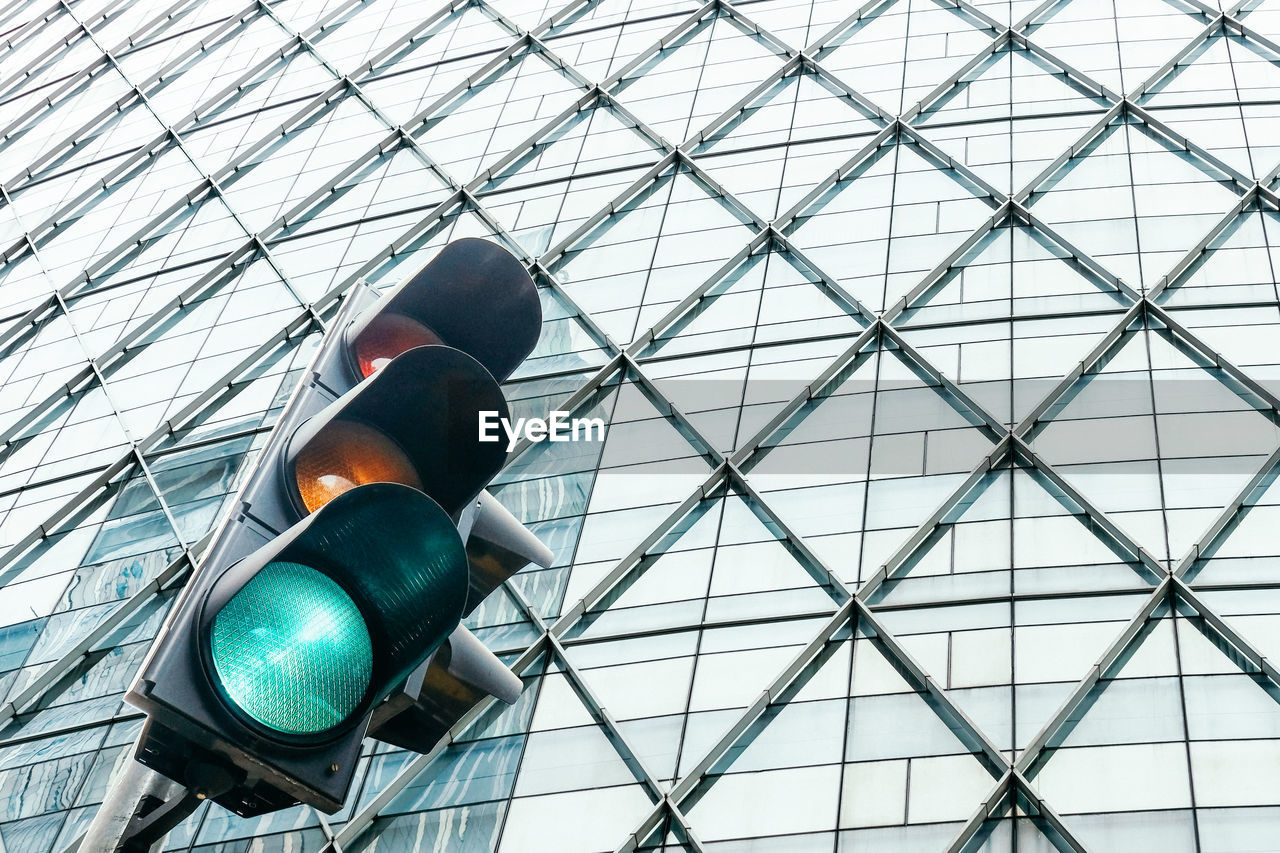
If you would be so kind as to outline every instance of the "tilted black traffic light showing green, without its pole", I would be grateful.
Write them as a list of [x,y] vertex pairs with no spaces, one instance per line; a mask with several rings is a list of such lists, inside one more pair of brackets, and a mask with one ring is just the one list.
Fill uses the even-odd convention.
[[483,489],[499,382],[541,327],[532,279],[449,243],[342,313],[128,694],[137,760],[255,816],[340,808],[366,734],[429,751],[520,680],[461,626],[550,552]]

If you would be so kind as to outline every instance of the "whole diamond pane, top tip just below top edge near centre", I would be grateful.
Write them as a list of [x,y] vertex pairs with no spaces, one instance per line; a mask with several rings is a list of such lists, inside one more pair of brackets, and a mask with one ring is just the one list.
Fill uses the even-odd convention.
[[613,92],[675,145],[732,106],[782,61],[765,38],[732,14],[717,12],[632,69]]

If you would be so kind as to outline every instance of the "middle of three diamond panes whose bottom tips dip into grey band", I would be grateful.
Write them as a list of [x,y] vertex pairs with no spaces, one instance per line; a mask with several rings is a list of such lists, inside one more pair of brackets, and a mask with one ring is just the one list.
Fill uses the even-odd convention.
[[1069,250],[1030,225],[1006,222],[920,293],[895,325],[924,359],[1012,424],[1115,328],[1130,304]]

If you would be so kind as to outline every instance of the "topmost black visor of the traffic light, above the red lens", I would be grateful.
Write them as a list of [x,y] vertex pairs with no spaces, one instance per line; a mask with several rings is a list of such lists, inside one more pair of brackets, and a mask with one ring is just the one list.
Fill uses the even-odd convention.
[[503,382],[532,352],[543,327],[538,287],[524,264],[488,240],[456,240],[347,330],[351,342],[374,316],[411,318]]

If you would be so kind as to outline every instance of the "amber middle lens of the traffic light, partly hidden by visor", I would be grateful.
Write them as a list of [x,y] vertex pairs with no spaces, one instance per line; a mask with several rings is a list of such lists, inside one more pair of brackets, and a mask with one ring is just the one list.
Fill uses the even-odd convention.
[[293,476],[307,512],[366,483],[422,482],[404,451],[371,426],[335,420],[307,442],[293,464]]

